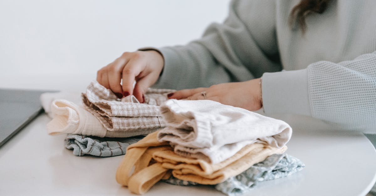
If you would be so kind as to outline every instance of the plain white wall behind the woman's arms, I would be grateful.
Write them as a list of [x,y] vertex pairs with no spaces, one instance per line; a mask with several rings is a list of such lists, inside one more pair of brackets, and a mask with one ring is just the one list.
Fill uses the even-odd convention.
[[229,0],[1,0],[0,87],[85,88],[124,51],[185,44]]

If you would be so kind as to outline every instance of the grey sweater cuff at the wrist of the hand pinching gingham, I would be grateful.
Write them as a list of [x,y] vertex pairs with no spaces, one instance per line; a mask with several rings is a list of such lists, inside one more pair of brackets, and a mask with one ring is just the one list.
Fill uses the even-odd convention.
[[180,78],[184,78],[186,70],[182,70],[187,66],[182,66],[183,60],[179,59],[179,55],[170,47],[154,48],[144,47],[138,50],[155,50],[162,54],[164,59],[164,66],[154,88],[169,88],[179,90]]

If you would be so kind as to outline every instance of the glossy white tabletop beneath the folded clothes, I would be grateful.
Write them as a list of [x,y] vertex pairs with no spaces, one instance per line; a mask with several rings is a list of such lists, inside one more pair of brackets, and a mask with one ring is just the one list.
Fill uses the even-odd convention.
[[[278,116],[274,116],[278,117]],[[328,130],[320,121],[283,117],[293,127],[287,153],[306,167],[286,178],[262,182],[249,195],[341,195],[368,193],[376,181],[376,151],[361,133]],[[49,136],[42,114],[0,147],[0,195],[132,195],[115,181],[123,156],[76,157],[65,135]],[[159,182],[145,195],[222,195],[208,186]]]

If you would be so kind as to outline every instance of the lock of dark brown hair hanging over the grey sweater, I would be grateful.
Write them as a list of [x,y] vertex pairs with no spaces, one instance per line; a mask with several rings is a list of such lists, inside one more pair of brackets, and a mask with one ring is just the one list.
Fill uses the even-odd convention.
[[301,0],[290,13],[289,23],[294,27],[296,22],[299,22],[300,28],[304,33],[306,30],[305,18],[312,12],[323,13],[326,9],[327,3],[330,0]]

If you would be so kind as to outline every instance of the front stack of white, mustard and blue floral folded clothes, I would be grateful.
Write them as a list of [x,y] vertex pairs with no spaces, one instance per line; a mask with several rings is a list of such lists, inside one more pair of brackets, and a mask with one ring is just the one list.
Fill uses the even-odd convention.
[[[257,173],[252,169],[257,163],[268,165],[264,170],[269,173],[284,168],[286,175],[304,166],[280,155],[292,133],[283,121],[210,100],[168,100],[161,105],[161,115],[167,127],[130,145],[118,167],[118,183],[133,193],[144,194],[161,179],[215,185],[226,194],[243,193],[262,181],[247,175]],[[284,165],[282,170],[277,164]],[[261,173],[268,179],[268,172]]]

